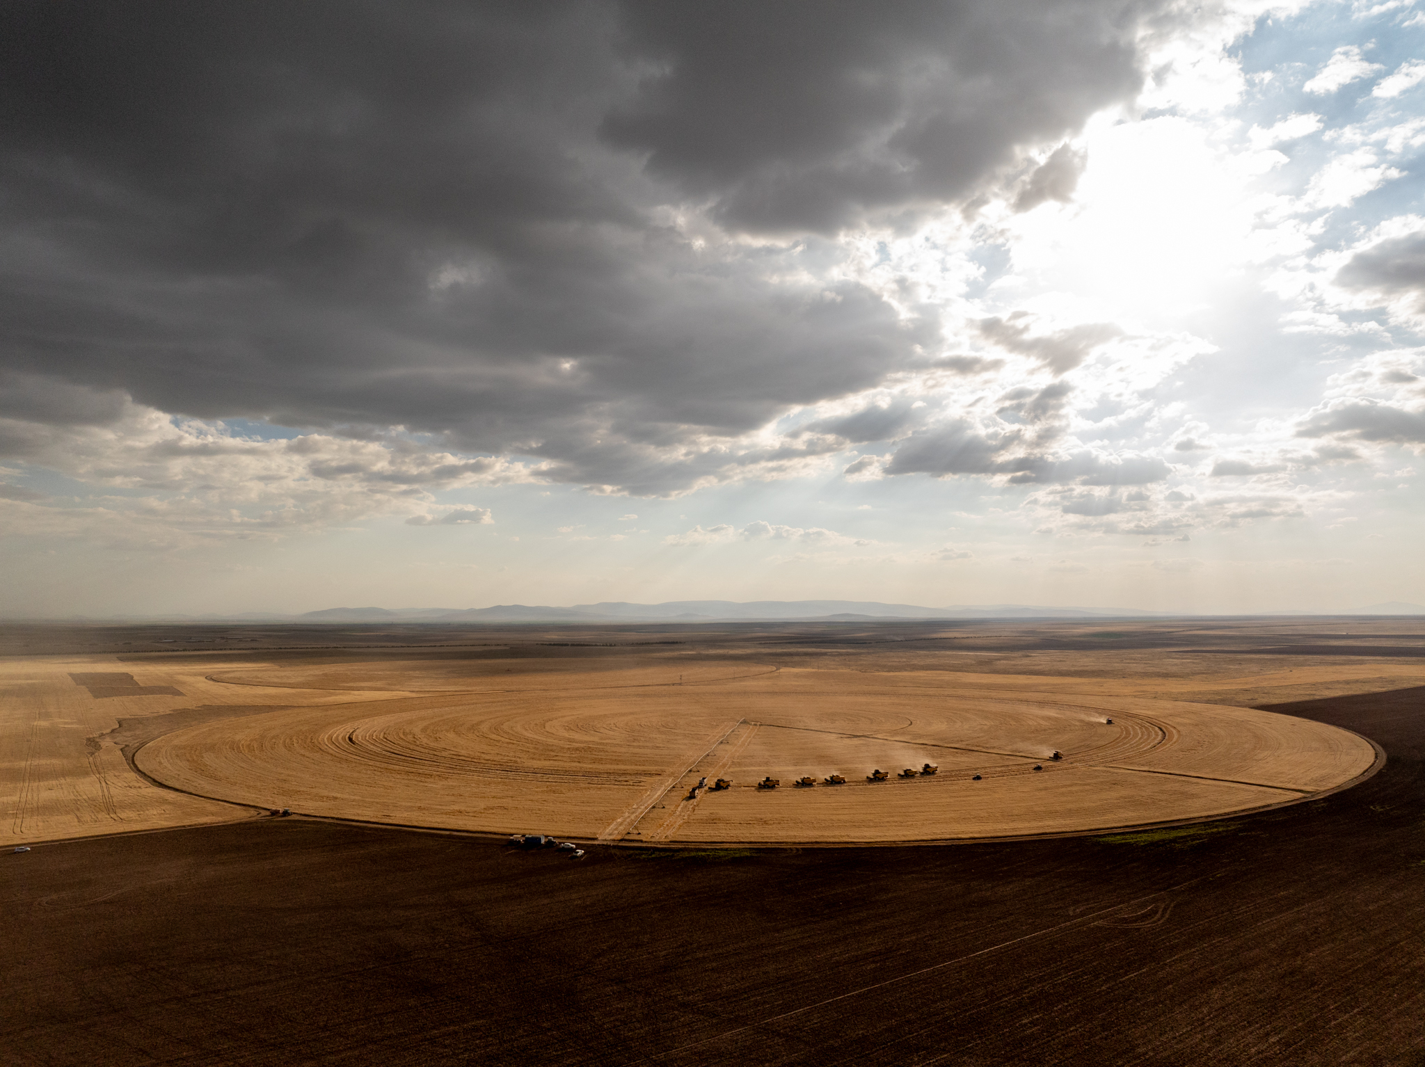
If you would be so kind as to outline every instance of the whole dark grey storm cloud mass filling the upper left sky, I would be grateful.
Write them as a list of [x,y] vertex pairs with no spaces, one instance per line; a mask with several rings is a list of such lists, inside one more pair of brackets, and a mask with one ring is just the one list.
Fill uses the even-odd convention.
[[[815,235],[966,201],[1131,95],[1147,7],[17,0],[3,360],[31,420],[127,393],[693,484],[938,355],[933,316],[804,281]],[[1016,330],[1056,372],[1099,336]]]

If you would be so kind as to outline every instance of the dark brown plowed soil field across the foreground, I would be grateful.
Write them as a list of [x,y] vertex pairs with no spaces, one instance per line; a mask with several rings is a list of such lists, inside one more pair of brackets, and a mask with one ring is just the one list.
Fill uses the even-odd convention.
[[571,862],[279,818],[3,855],[0,1060],[1425,1063],[1425,688],[1273,709],[1388,764],[1097,839]]

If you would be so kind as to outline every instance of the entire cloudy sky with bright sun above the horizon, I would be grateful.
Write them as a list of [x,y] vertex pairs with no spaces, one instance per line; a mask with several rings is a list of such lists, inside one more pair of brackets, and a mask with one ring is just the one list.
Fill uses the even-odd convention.
[[3,615],[1425,603],[1425,3],[0,26]]

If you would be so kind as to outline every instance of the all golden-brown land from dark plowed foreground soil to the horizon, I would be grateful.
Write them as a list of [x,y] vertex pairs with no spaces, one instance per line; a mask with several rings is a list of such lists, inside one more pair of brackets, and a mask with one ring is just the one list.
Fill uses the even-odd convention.
[[1103,625],[0,627],[0,843],[269,806],[654,843],[1210,818],[1374,758],[1244,705],[1425,681],[1412,621]]

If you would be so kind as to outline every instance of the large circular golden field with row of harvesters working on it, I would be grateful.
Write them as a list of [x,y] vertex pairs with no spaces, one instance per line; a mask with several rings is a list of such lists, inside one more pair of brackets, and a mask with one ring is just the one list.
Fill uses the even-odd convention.
[[[202,796],[348,819],[608,842],[869,843],[1216,818],[1308,799],[1377,762],[1369,742],[1334,727],[1083,680],[741,665],[432,691],[383,670],[400,695],[373,699],[382,687],[348,671],[359,702],[190,727],[137,764]],[[335,687],[282,668],[211,680]],[[898,776],[925,764],[938,772]],[[868,782],[874,769],[889,781]],[[805,775],[817,784],[795,788]],[[765,776],[781,786],[755,788]],[[732,788],[694,792],[701,778]]]

